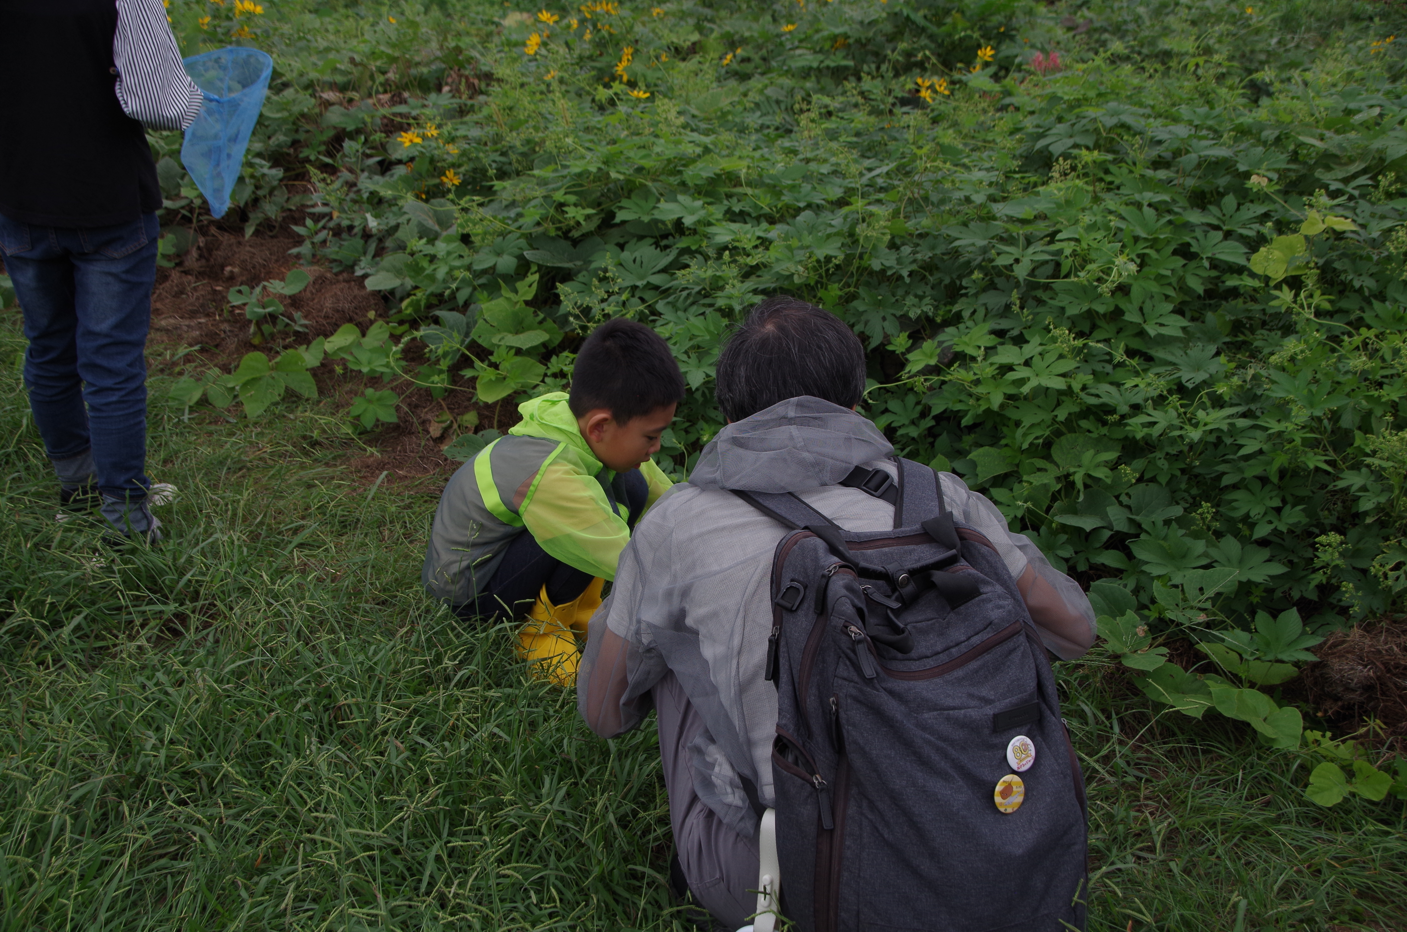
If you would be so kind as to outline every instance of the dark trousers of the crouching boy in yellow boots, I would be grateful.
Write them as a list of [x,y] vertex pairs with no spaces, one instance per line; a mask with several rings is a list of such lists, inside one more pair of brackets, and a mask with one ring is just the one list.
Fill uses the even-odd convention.
[[[644,514],[649,497],[650,487],[639,469],[619,473],[611,483],[611,504],[616,514],[626,511],[626,524],[632,528]],[[466,621],[519,618],[528,614],[543,588],[553,605],[561,605],[587,591],[591,580],[591,573],[550,556],[532,534],[523,531],[508,545],[488,586],[474,601],[456,605],[454,614]]]

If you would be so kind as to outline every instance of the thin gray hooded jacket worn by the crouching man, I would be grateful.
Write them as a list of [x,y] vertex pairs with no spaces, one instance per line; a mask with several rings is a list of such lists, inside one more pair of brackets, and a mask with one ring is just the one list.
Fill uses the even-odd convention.
[[[893,446],[861,415],[820,398],[778,403],[723,428],[689,481],[644,515],[620,555],[611,597],[591,618],[577,703],[609,738],[640,724],[649,691],[674,670],[706,722],[689,749],[699,798],[739,833],[756,815],[744,780],[771,805],[777,694],[763,679],[772,612],[772,552],[787,534],[729,490],[794,491],[847,531],[893,527],[893,507],[837,483],[857,465],[896,466]],[[953,515],[981,531],[1021,584],[1031,614],[1044,601],[1041,636],[1062,657],[1095,641],[1095,614],[1079,586],[1002,512],[951,473],[941,473]],[[615,635],[609,636],[608,635]]]

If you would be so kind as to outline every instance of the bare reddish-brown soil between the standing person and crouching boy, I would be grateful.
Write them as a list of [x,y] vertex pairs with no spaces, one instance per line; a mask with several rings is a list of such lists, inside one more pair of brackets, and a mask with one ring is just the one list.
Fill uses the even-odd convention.
[[[238,231],[205,229],[196,246],[174,267],[158,269],[152,294],[152,334],[156,345],[190,348],[193,356],[222,372],[232,370],[249,352],[262,351],[276,356],[284,348],[304,345],[318,336],[331,336],[343,324],[366,329],[373,320],[384,318],[386,303],[374,291],[367,291],[362,279],[350,272],[308,266],[290,249],[303,245],[294,235],[260,235],[245,239]],[[253,289],[262,282],[283,279],[291,269],[301,267],[312,276],[308,286],[283,297],[284,307],[298,313],[308,322],[305,332],[284,331],[269,342],[255,345],[249,339],[249,321],[239,307],[231,308],[228,293],[235,286]],[[425,363],[424,346],[418,342],[407,348],[404,365],[408,372]],[[191,363],[191,353],[182,358],[182,366]],[[480,429],[497,427],[507,431],[518,422],[518,410],[509,403],[495,405],[474,404],[471,380],[454,374],[453,387],[443,398],[435,398],[429,389],[408,389],[401,383],[383,384],[378,377],[364,377],[335,362],[311,370],[321,397],[332,398],[345,410],[366,389],[391,387],[401,394],[398,422],[386,424],[363,435],[376,453],[353,456],[346,466],[360,476],[366,486],[381,473],[387,484],[411,483],[416,490],[439,491],[439,487],[459,467],[459,462],[440,451],[454,438],[454,428],[440,429],[445,421],[457,421],[477,411]]]

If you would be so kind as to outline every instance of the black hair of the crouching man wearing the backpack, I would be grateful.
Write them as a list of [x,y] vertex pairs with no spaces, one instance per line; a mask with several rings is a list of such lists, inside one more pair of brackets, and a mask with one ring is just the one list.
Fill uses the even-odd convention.
[[715,393],[729,421],[803,394],[843,408],[865,391],[865,351],[844,321],[787,294],[751,310],[718,358]]

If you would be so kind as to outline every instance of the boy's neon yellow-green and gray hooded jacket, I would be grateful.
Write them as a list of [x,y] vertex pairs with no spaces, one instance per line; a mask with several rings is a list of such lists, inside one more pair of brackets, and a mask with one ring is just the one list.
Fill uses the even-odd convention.
[[[450,605],[473,600],[525,531],[549,556],[608,580],[630,539],[616,474],[591,453],[567,394],[545,394],[518,411],[522,422],[459,467],[435,511],[421,581]],[[650,460],[640,473],[649,507],[671,483]]]

